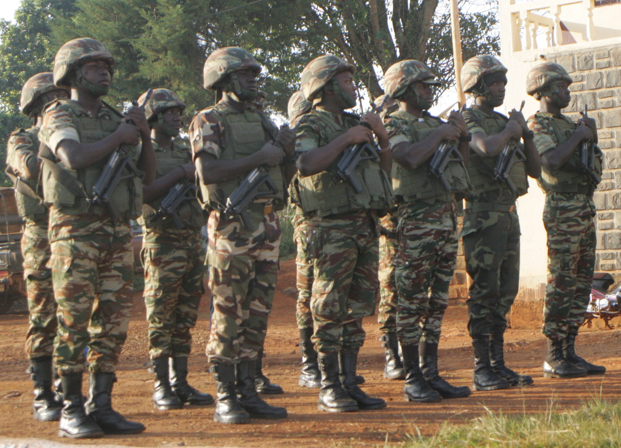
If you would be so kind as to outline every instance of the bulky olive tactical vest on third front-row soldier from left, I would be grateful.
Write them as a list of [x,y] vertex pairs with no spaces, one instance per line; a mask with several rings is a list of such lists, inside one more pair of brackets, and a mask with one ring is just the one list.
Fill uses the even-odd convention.
[[[347,132],[337,122],[326,119],[320,112],[313,109],[302,116],[313,115],[320,117],[324,126],[324,144],[332,142]],[[363,160],[352,173],[358,183],[363,186],[360,193],[351,186],[348,181],[341,181],[335,175],[338,157],[330,164],[327,170],[312,176],[299,178],[299,193],[302,209],[305,214],[316,213],[319,217],[332,214],[347,213],[363,209],[384,209],[392,206],[392,189],[388,175],[379,167],[376,160]]]

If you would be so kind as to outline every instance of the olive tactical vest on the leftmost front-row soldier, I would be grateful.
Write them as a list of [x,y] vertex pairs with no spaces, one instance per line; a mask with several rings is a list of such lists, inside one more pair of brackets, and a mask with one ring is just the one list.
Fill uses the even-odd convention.
[[[44,113],[55,107],[68,106],[71,110],[71,121],[78,132],[81,144],[89,144],[105,139],[112,134],[123,119],[123,115],[113,107],[103,103],[109,110],[110,119],[93,118],[84,111],[83,107],[71,99],[59,99],[50,103]],[[123,145],[125,154],[134,163],[138,162],[139,153],[133,145]],[[58,157],[52,154],[50,149],[42,147],[40,157],[43,158],[42,182],[45,203],[60,209],[66,214],[108,214],[106,208],[91,204],[93,185],[96,183],[102,170],[106,167],[109,157],[93,165],[71,170],[66,168]],[[54,168],[53,165],[58,168]],[[125,173],[126,174],[126,173]],[[71,176],[75,181],[68,180]],[[80,191],[81,190],[81,191]],[[136,219],[142,213],[142,179],[131,177],[120,181],[110,198],[113,206],[120,217]]]

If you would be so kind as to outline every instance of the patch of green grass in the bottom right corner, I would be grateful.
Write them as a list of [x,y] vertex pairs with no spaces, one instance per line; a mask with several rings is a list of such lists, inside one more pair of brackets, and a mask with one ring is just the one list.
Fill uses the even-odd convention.
[[597,395],[581,406],[560,409],[551,400],[545,412],[505,415],[484,407],[484,414],[463,424],[446,423],[432,437],[412,426],[405,442],[387,440],[384,448],[600,448],[621,446],[621,402]]

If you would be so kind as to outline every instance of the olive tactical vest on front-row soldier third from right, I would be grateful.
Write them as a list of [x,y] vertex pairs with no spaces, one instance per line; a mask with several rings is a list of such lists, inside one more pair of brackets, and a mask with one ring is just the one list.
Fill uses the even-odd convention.
[[[443,122],[437,117],[425,114],[424,121],[419,121],[406,111],[396,111],[389,114],[389,117],[398,117],[400,121],[407,122],[412,141],[410,143],[422,142],[437,129]],[[454,193],[465,193],[469,191],[468,171],[461,163],[448,163],[444,171],[444,178],[450,185],[450,190],[446,190],[442,180],[429,173],[429,163],[421,163],[414,170],[402,167],[397,163],[392,167],[392,188],[397,201],[413,202],[423,199],[435,199],[439,201],[449,201]],[[396,165],[396,166],[395,166]]]

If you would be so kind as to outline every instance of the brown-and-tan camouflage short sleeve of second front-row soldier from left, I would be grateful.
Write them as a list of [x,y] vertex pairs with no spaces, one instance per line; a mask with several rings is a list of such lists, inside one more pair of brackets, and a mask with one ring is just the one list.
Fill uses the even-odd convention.
[[188,134],[193,160],[201,152],[220,158],[225,147],[224,120],[215,111],[198,112],[190,123]]

